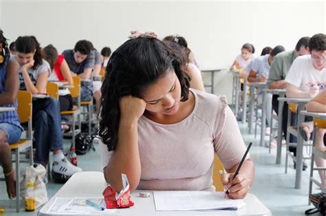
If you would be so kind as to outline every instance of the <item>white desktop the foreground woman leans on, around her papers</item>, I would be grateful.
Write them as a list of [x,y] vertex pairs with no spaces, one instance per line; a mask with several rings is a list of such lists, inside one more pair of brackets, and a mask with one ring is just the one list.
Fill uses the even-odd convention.
[[[46,212],[55,197],[102,197],[105,188],[105,179],[101,172],[81,172],[74,174],[63,187],[39,210],[38,215],[48,215]],[[248,194],[244,202],[246,206],[239,210],[213,211],[156,211],[153,192],[149,198],[139,197],[139,191],[131,193],[131,201],[135,205],[131,208],[118,208],[113,215],[272,215],[252,194]]]

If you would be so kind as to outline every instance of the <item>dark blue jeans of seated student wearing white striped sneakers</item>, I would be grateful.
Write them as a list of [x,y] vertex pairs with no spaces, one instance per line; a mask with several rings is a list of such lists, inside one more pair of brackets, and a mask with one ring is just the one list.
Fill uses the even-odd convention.
[[55,98],[33,100],[35,162],[47,164],[52,150],[63,149],[60,102]]

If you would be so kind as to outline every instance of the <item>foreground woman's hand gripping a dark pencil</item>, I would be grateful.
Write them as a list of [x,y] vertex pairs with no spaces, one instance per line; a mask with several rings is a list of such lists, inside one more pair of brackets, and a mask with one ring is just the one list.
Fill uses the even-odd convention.
[[221,175],[221,183],[228,190],[228,197],[231,199],[243,199],[246,197],[250,188],[250,179],[238,173],[234,180],[232,177],[235,173],[224,173]]

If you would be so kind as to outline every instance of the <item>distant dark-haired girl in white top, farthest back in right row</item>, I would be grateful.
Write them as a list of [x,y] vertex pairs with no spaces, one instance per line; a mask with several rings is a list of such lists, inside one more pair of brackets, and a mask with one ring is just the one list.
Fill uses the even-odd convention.
[[[241,54],[235,58],[235,61],[233,62],[231,66],[232,71],[237,71],[238,69],[246,69],[246,67],[251,63],[254,58],[257,56],[254,55],[254,46],[251,43],[245,43],[241,47]],[[250,69],[248,72],[242,72],[240,76],[248,76],[250,72]]]

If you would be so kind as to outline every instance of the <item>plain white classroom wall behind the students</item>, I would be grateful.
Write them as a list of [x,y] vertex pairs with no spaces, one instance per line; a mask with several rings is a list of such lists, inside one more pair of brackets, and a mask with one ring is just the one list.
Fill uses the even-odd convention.
[[[1,1],[1,0],[0,0]],[[249,42],[292,50],[301,36],[326,30],[325,1],[17,1],[3,0],[0,24],[9,39],[34,34],[59,51],[88,39],[113,50],[129,30],[153,30],[162,38],[184,36],[202,69],[228,68]],[[225,80],[226,79],[226,80]],[[230,77],[217,93],[230,95]]]

